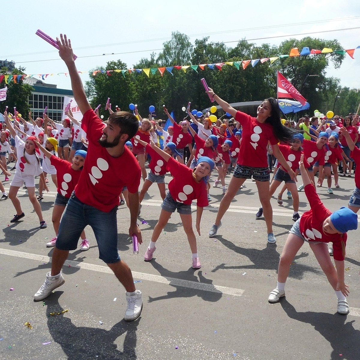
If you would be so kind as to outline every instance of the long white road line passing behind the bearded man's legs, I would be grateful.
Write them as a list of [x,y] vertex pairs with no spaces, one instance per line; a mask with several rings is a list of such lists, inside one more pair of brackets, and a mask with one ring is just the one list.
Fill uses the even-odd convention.
[[[26,252],[22,252],[22,251],[14,251],[14,250],[0,248],[0,254],[21,257],[21,258],[26,258],[26,259],[30,259],[30,260],[40,261],[40,262],[51,262],[51,257],[49,257],[49,256],[31,254],[31,253],[26,253]],[[77,261],[73,261],[73,260],[66,260],[64,265],[77,266],[77,267],[81,267],[82,269],[98,271],[100,273],[107,273],[107,274],[113,273],[112,270],[108,266],[88,264],[86,262],[77,262]],[[132,271],[132,276],[136,279],[153,281],[153,282],[167,284],[167,285],[181,286],[181,287],[185,287],[185,288],[197,289],[197,290],[208,291],[208,292],[213,292],[213,293],[227,294],[227,295],[233,295],[233,296],[242,296],[242,294],[244,293],[244,290],[242,290],[242,289],[230,288],[230,287],[226,287],[226,286],[219,286],[219,285],[213,285],[213,284],[207,284],[207,283],[198,283],[198,282],[189,281],[189,280],[164,277],[161,275],[138,273],[137,271]]]

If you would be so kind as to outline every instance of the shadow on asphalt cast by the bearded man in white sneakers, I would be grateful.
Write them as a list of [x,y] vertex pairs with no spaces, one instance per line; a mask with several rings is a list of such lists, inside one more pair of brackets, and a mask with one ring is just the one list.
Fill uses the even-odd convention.
[[[135,321],[121,320],[110,330],[76,326],[71,321],[71,310],[60,315],[50,315],[65,310],[58,302],[61,294],[62,291],[55,291],[53,296],[46,299],[46,316],[48,316],[50,335],[53,341],[62,347],[68,360],[137,359],[136,330],[140,318]],[[118,346],[115,341],[123,334],[125,334],[123,346]],[[122,347],[123,351],[118,350]]]

